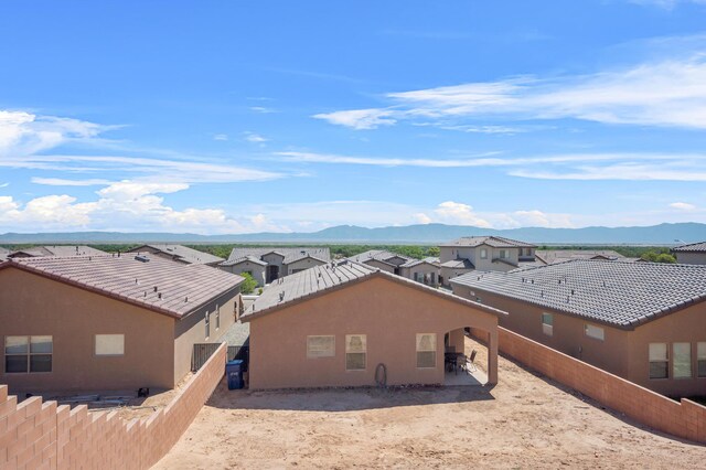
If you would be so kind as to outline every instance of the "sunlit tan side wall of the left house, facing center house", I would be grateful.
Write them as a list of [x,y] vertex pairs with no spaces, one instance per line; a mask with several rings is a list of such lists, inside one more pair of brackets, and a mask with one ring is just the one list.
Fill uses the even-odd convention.
[[[208,302],[174,323],[174,383],[179,383],[191,371],[194,343],[213,343],[235,323],[242,302],[239,288]],[[216,310],[221,314],[221,328],[216,328]],[[206,312],[208,312],[210,335],[206,337]]]

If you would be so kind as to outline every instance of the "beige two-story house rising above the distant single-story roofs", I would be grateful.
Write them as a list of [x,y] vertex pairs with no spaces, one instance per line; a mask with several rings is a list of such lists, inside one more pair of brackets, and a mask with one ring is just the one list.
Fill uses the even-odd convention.
[[472,270],[510,271],[544,265],[535,257],[536,245],[499,236],[469,236],[439,246],[441,284]]

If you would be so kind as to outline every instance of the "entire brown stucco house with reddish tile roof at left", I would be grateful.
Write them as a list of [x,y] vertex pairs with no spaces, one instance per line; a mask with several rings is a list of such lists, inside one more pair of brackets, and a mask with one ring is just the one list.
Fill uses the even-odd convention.
[[0,383],[14,393],[172,388],[193,344],[238,313],[243,282],[146,255],[0,264]]

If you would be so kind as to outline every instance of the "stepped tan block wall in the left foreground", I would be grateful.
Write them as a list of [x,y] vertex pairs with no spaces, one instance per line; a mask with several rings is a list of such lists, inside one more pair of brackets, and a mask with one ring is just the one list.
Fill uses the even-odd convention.
[[163,409],[126,421],[31,397],[18,405],[0,385],[0,468],[147,469],[179,440],[224,375],[227,345]]

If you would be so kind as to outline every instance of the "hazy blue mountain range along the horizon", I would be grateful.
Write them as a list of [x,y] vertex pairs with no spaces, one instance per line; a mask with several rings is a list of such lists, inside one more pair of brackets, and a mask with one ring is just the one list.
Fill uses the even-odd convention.
[[172,233],[74,232],[0,235],[2,244],[131,244],[131,243],[336,243],[336,244],[429,244],[461,236],[498,235],[549,245],[678,245],[706,241],[706,224],[660,224],[648,227],[510,228],[490,229],[466,225],[408,225],[365,228],[339,225],[313,233],[257,233],[196,235]]

